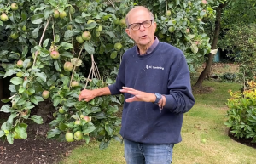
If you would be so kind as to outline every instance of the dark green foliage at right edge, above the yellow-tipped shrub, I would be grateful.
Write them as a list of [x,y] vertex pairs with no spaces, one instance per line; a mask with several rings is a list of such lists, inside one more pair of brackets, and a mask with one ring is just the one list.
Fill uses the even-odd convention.
[[236,26],[226,32],[224,39],[219,42],[221,48],[226,48],[232,52],[230,57],[240,63],[240,80],[244,83],[253,80],[256,74],[256,36],[254,25]]

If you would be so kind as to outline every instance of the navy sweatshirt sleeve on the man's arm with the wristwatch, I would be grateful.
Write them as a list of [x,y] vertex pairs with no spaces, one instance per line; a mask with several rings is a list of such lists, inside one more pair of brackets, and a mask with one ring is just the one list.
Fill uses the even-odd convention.
[[169,94],[166,94],[165,109],[185,113],[195,104],[192,94],[189,67],[182,51],[175,56],[168,78]]

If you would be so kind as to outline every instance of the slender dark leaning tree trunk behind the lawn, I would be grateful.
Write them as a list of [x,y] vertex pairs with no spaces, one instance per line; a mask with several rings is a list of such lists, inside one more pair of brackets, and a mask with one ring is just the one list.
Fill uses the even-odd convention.
[[[214,30],[214,35],[213,35],[214,37],[213,37],[213,40],[212,40],[211,49],[216,49],[217,48],[218,36],[219,36],[219,32],[220,32],[221,13],[222,13],[222,9],[224,7],[226,7],[228,3],[229,2],[225,2],[224,4],[220,4],[218,6],[218,8],[216,8],[215,30]],[[197,88],[202,87],[202,82],[204,81],[204,79],[207,77],[207,75],[211,71],[213,57],[214,57],[214,54],[212,54],[212,53],[208,54],[207,65],[206,65],[205,69],[201,72],[200,76],[198,77],[197,82],[195,83],[195,87],[197,87]]]

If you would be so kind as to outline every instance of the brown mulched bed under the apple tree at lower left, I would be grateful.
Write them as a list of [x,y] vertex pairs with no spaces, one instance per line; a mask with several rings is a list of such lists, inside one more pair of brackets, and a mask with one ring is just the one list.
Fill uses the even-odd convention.
[[0,164],[54,164],[68,156],[84,142],[60,142],[28,135],[28,139],[15,139],[14,144],[0,141]]

